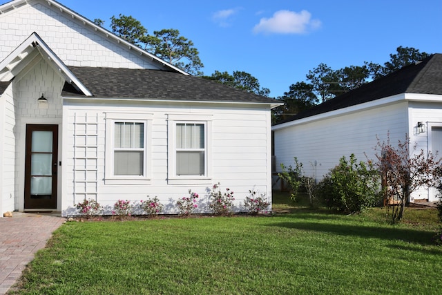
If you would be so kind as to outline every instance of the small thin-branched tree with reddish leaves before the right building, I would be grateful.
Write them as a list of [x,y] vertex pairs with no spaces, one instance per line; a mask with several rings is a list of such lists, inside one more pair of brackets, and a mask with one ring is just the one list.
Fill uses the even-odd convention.
[[410,195],[420,187],[434,187],[439,180],[441,159],[436,160],[430,151],[415,153],[417,144],[410,149],[410,137],[405,135],[405,141],[398,140],[397,146],[390,143],[390,133],[387,142],[377,138],[377,166],[383,178],[384,202],[392,208],[392,222],[403,218],[405,204],[410,201]]

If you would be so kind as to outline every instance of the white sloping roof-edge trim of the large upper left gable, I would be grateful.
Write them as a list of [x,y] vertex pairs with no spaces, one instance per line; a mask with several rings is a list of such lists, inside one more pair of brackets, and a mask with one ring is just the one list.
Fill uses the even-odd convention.
[[[1,0],[0,0],[1,1]],[[173,64],[169,64],[167,61],[164,61],[157,57],[156,55],[153,55],[151,53],[148,53],[146,50],[143,50],[142,48],[131,44],[130,42],[122,39],[121,37],[118,37],[113,32],[106,30],[102,26],[98,26],[93,21],[90,21],[86,17],[83,17],[82,15],[79,15],[77,12],[70,10],[70,8],[67,8],[66,6],[62,5],[61,3],[54,1],[54,0],[13,0],[8,3],[4,3],[0,5],[0,15],[6,14],[8,12],[14,11],[18,8],[21,8],[22,6],[26,5],[32,5],[35,2],[39,2],[44,6],[52,6],[54,8],[57,8],[57,12],[63,14],[66,13],[70,18],[77,19],[81,23],[84,24],[86,27],[90,27],[92,30],[95,30],[95,32],[102,34],[104,37],[108,39],[112,39],[115,41],[116,44],[119,44],[121,46],[126,46],[129,50],[133,50],[135,53],[139,54],[142,57],[145,57],[146,59],[151,60],[155,64],[160,64],[162,68],[165,68],[165,70],[171,70],[177,73],[182,73],[183,75],[190,75],[189,73],[186,73],[186,71],[177,68],[176,66],[173,66]]]

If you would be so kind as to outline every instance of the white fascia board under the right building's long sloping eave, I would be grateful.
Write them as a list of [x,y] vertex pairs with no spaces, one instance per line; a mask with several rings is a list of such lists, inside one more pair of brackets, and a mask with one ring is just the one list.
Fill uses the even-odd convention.
[[347,115],[349,113],[356,113],[358,111],[365,111],[369,108],[378,108],[380,106],[385,106],[387,104],[394,104],[396,102],[400,102],[401,100],[405,100],[405,93],[392,95],[389,97],[384,97],[380,99],[373,100],[372,102],[365,102],[363,104],[356,104],[355,106],[347,106],[346,108],[340,108],[335,111],[329,111],[327,113],[321,113],[318,115],[313,115],[311,117],[305,117],[299,120],[294,120],[282,124],[278,124],[275,126],[271,126],[272,131],[276,131],[279,129],[285,129],[287,127],[296,126],[300,124],[307,124],[311,122],[315,122],[318,120],[325,120],[331,117],[337,117],[340,115]]

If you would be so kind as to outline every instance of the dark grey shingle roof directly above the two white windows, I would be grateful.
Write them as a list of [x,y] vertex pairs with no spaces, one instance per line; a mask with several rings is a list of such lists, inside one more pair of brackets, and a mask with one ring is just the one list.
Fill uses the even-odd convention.
[[[200,77],[165,70],[69,66],[74,75],[99,98],[159,99],[200,102],[256,102],[276,99],[240,91]],[[64,96],[83,96],[65,84]]]

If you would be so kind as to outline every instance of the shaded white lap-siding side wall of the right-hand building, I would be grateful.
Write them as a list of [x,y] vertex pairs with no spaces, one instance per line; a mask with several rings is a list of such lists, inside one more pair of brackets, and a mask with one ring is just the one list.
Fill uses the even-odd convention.
[[385,140],[388,131],[392,142],[405,138],[407,104],[383,106],[276,130],[276,169],[281,170],[280,163],[294,166],[294,157],[297,157],[305,173],[320,180],[343,156],[348,159],[354,153],[358,161],[366,161],[367,157],[374,160],[376,135]]

